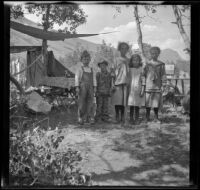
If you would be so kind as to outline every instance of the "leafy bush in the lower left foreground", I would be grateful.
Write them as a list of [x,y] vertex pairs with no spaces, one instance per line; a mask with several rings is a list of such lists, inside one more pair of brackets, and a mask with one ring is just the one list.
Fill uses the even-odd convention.
[[77,168],[82,160],[80,153],[70,148],[57,151],[64,139],[61,130],[47,133],[39,126],[27,133],[11,131],[11,185],[88,185],[90,177]]

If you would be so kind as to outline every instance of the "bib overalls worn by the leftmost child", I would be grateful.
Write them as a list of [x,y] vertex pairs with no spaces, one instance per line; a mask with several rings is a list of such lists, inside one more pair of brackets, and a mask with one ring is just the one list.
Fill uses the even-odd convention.
[[[83,67],[82,67],[83,69]],[[85,72],[83,69],[83,74],[80,82],[80,92],[79,92],[79,104],[78,111],[79,117],[81,119],[93,119],[92,106],[94,99],[94,89],[93,89],[93,70],[91,72]]]

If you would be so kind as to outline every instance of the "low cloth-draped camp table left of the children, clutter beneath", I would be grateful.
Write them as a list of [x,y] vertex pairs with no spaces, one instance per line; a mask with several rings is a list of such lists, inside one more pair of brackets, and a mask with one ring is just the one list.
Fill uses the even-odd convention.
[[45,93],[52,101],[56,100],[57,104],[69,108],[76,102],[74,88],[75,79],[66,77],[44,77],[40,86],[50,87],[51,90]]

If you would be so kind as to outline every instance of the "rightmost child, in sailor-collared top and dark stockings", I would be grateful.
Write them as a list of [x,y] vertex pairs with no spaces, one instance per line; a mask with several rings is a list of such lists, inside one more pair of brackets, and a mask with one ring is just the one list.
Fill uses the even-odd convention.
[[159,47],[150,49],[151,60],[147,62],[143,71],[143,88],[141,95],[145,91],[146,105],[146,120],[150,121],[151,108],[154,109],[155,122],[160,122],[158,119],[158,111],[162,103],[161,88],[166,83],[165,64],[158,60],[160,55]]

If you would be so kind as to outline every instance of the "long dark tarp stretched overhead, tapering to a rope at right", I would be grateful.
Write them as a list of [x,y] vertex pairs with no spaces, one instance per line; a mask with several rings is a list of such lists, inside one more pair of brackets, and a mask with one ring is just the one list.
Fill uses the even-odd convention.
[[[89,37],[89,36],[99,35],[99,34],[64,34],[64,33],[59,33],[59,32],[50,32],[50,31],[45,32],[42,29],[23,25],[14,21],[10,21],[10,27],[14,30],[17,30],[29,36],[33,36],[39,39],[50,40],[50,41],[59,41],[59,40],[65,40],[68,38],[80,38],[80,37]],[[108,33],[113,33],[113,32],[106,32],[106,33],[101,33],[101,34],[108,34]]]

